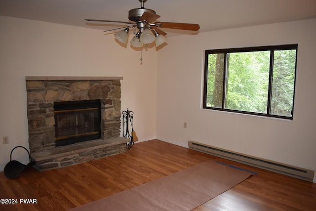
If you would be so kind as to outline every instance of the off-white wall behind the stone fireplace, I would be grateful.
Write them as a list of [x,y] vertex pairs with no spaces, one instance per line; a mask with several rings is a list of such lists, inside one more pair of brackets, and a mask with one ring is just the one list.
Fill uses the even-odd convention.
[[[0,170],[28,148],[25,76],[119,76],[121,110],[134,111],[141,140],[156,134],[157,52],[120,46],[113,34],[0,16]],[[122,129],[121,129],[122,130]],[[9,136],[9,144],[2,137]],[[26,163],[23,149],[13,159]]]

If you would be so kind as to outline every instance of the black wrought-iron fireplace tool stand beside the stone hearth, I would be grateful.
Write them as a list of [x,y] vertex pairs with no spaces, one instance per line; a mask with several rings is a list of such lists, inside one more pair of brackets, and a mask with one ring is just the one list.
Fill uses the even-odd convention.
[[[126,111],[122,111],[122,114],[123,114],[123,137],[130,139],[130,141],[126,143],[127,148],[130,149],[132,146],[134,146],[134,141],[138,140],[136,133],[133,129],[134,112],[129,111],[127,108]],[[129,129],[128,129],[129,124],[132,127],[132,132],[131,132],[132,134],[129,133]],[[126,126],[126,128],[125,128],[125,126]]]

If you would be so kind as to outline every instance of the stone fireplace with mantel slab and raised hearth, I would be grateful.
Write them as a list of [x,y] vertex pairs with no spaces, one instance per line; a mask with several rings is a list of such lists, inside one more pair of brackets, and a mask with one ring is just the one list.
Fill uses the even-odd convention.
[[[37,169],[60,168],[126,151],[128,140],[119,137],[120,80],[122,77],[26,77],[29,147]],[[56,138],[55,104],[91,100],[100,102],[101,137],[56,144],[60,138]],[[74,117],[79,122],[79,116]]]

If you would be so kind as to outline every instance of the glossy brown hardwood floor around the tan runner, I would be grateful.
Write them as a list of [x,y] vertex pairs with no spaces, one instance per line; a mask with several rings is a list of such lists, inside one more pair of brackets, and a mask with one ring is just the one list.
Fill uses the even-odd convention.
[[[316,184],[250,167],[159,140],[136,143],[127,153],[47,171],[30,169],[16,179],[0,172],[0,211],[64,211],[216,160],[258,174],[194,211],[315,211]],[[37,204],[20,203],[36,199]],[[132,200],[132,199],[131,199]]]

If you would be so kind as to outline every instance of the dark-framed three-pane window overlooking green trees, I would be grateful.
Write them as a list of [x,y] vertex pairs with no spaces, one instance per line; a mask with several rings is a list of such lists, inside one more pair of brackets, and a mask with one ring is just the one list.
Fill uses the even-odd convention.
[[297,44],[205,50],[203,108],[293,119]]

